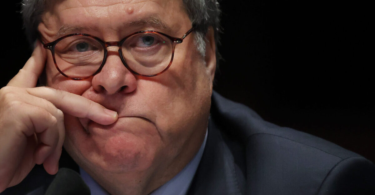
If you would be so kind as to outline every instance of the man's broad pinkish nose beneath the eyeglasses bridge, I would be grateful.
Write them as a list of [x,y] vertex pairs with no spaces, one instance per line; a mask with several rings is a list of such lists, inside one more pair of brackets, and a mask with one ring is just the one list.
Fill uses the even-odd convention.
[[131,93],[137,86],[135,76],[124,66],[115,48],[108,48],[105,65],[91,81],[97,92],[106,95]]

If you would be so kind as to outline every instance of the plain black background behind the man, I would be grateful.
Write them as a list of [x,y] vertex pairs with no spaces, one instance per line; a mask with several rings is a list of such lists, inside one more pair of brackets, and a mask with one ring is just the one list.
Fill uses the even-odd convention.
[[[265,120],[322,137],[375,162],[370,6],[276,0],[220,4],[223,60],[214,89]],[[18,1],[4,8],[0,86],[31,54]]]

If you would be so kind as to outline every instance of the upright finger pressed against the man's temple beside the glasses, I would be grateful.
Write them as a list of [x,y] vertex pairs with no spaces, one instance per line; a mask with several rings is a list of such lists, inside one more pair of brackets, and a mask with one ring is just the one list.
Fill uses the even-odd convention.
[[42,74],[46,62],[46,51],[40,41],[36,41],[36,47],[22,69],[13,77],[7,86],[13,87],[35,87],[37,80]]

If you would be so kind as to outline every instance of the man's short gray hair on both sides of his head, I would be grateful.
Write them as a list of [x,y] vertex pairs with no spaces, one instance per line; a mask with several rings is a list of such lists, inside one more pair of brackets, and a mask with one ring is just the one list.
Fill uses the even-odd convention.
[[[37,37],[37,27],[41,22],[42,14],[46,9],[48,0],[22,0],[21,13],[23,17],[24,29],[30,43],[33,43]],[[189,15],[193,27],[195,27],[196,49],[205,56],[205,34],[208,27],[212,26],[214,30],[216,43],[216,58],[219,59],[217,44],[219,44],[220,30],[220,7],[217,0],[183,0],[184,6]]]

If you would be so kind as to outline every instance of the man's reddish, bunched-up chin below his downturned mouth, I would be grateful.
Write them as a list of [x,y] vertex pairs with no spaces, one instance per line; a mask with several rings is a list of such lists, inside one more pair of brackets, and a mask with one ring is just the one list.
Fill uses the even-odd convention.
[[66,128],[66,151],[85,170],[136,173],[149,169],[160,156],[162,142],[157,129],[138,119],[118,123],[124,128],[113,130],[111,126],[103,129],[93,125],[90,133],[82,126]]

